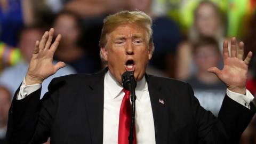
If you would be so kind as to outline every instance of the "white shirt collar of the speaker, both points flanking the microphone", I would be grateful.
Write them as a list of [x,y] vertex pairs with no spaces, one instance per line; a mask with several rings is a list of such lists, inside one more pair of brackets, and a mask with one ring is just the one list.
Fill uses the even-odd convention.
[[[110,97],[112,99],[115,99],[118,97],[118,95],[120,95],[120,93],[124,93],[123,90],[123,86],[121,84],[119,84],[116,79],[114,78],[114,76],[110,73],[110,71],[108,70],[108,72],[105,75],[105,81],[106,81],[106,89],[110,90]],[[147,91],[148,90],[148,85],[147,85],[147,81],[145,76],[139,81],[137,82],[137,86],[135,88],[135,94],[137,96],[138,101],[140,101],[143,91]]]

